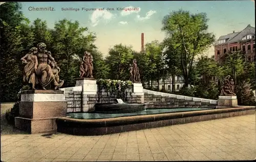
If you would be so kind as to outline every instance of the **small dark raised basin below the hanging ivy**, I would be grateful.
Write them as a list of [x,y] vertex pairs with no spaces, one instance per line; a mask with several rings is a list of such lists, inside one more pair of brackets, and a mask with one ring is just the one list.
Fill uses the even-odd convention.
[[96,103],[95,112],[108,113],[124,113],[144,111],[145,105],[138,103]]

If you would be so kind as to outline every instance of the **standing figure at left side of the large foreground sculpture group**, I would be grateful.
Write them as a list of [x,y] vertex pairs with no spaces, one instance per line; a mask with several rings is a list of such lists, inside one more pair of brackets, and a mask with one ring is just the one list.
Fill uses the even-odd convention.
[[22,63],[26,64],[23,71],[23,82],[31,84],[31,89],[35,90],[36,76],[35,71],[37,70],[37,48],[32,47],[27,55],[22,59]]

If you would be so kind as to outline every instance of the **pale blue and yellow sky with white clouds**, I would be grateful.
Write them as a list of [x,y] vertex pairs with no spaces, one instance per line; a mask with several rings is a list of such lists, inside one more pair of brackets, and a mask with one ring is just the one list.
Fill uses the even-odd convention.
[[[255,27],[254,1],[162,1],[162,2],[23,2],[23,13],[30,21],[40,18],[46,20],[48,27],[63,18],[78,20],[82,27],[96,33],[95,45],[103,56],[115,44],[132,45],[141,49],[141,33],[144,42],[162,41],[165,33],[161,31],[165,15],[179,9],[190,13],[207,14],[208,32],[218,39],[233,31],[242,31],[248,24]],[[51,7],[54,11],[29,11],[34,7]],[[63,11],[63,9],[70,11]],[[83,10],[82,10],[83,8]],[[96,8],[95,11],[86,9]],[[98,10],[103,9],[104,10]],[[107,9],[111,10],[107,10]],[[117,8],[136,8],[132,11],[118,11]],[[72,11],[72,10],[73,11]],[[79,11],[75,11],[79,9]],[[114,9],[114,10],[112,10]],[[214,55],[214,47],[206,55]]]

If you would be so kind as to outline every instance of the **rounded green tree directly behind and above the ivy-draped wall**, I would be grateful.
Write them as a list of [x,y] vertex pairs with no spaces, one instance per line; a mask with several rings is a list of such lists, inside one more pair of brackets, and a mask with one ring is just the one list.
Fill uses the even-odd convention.
[[109,65],[111,79],[129,79],[129,64],[132,64],[133,59],[132,46],[117,44],[109,50],[109,56],[106,57],[106,64]]

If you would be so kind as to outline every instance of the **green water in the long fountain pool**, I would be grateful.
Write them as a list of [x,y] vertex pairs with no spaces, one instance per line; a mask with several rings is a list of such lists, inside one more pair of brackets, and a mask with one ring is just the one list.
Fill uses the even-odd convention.
[[190,111],[200,111],[200,110],[211,110],[212,107],[202,107],[202,108],[175,108],[175,109],[151,109],[140,112],[132,113],[115,113],[109,112],[105,113],[68,113],[67,116],[75,119],[105,119],[105,118],[117,118],[117,117],[128,117],[128,116],[138,116],[138,115],[151,115],[151,114],[163,114],[163,113],[176,113],[176,112],[190,112]]

